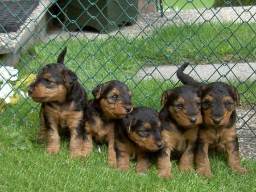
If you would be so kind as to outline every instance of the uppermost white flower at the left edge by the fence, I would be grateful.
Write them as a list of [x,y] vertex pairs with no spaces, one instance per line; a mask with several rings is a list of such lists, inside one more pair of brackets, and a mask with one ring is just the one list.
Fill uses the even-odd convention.
[[16,81],[18,80],[18,69],[14,69],[13,66],[1,66],[0,67],[0,82]]

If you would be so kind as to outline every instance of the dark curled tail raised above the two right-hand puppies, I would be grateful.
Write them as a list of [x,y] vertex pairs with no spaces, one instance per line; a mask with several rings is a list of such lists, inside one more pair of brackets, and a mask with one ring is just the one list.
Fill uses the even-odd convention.
[[184,73],[185,68],[187,68],[189,62],[184,62],[183,65],[177,70],[177,78],[183,82],[184,85],[191,85],[193,87],[199,87],[202,84],[200,82],[195,81],[192,77],[188,76],[188,74]]

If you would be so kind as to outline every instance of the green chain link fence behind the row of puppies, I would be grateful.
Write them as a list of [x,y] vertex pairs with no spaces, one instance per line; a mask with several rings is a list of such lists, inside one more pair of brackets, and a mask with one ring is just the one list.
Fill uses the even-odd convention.
[[237,129],[255,138],[256,6],[232,3],[0,1],[0,125],[38,126],[27,86],[68,47],[65,65],[90,98],[97,84],[117,79],[129,85],[135,106],[157,109],[163,91],[181,85],[176,70],[189,61],[185,72],[198,81],[237,87]]

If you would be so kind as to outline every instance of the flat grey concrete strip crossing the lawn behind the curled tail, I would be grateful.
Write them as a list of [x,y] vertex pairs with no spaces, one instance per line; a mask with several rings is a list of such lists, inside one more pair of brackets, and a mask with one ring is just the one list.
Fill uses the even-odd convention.
[[[173,81],[179,81],[176,71],[179,66],[160,65],[158,67],[146,67],[137,73],[136,78],[139,80],[160,79],[166,80],[171,78]],[[236,64],[213,64],[213,65],[189,65],[184,73],[189,74],[197,81],[224,81],[227,80],[256,80],[256,62],[236,63]]]

